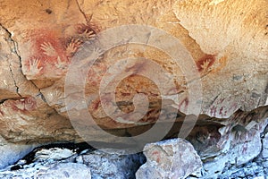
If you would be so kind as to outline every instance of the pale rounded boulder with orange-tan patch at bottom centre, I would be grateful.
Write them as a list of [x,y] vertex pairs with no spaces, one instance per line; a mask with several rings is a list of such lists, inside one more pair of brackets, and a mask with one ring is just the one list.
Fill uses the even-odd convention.
[[147,163],[138,169],[138,179],[201,176],[202,161],[188,141],[174,139],[150,143],[145,146],[144,154]]

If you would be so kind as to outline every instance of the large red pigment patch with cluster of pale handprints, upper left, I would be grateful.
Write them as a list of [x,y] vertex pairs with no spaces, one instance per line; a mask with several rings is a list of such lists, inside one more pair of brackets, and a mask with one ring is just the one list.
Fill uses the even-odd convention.
[[[55,27],[55,26],[54,26]],[[57,78],[66,72],[72,56],[79,50],[85,40],[96,35],[97,28],[92,24],[74,25],[73,34],[65,34],[63,28],[47,27],[29,32],[29,56],[23,58],[26,75],[35,78]]]

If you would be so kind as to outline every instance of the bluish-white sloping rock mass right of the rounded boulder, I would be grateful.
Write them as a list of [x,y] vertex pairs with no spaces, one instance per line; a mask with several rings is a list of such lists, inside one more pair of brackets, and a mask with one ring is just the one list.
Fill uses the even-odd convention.
[[[187,140],[193,144],[204,163],[203,175],[216,178],[221,175],[222,177],[228,176],[237,171],[245,176],[263,175],[262,166],[267,161],[266,157],[262,157],[265,156],[266,151],[267,112],[267,107],[259,108],[247,115],[237,112],[236,119],[241,117],[241,121],[233,121],[229,125],[218,126],[218,128],[199,126],[191,132]],[[252,117],[255,120],[246,122]],[[257,159],[260,156],[262,159]],[[247,166],[251,166],[252,161],[257,162],[258,166],[261,166],[260,171],[263,170],[263,172],[254,170],[250,172]]]

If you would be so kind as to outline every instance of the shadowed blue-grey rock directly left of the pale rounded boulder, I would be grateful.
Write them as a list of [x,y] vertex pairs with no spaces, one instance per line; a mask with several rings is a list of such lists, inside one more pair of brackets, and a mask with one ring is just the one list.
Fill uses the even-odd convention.
[[76,158],[90,168],[92,178],[135,178],[138,167],[145,162],[142,154],[126,155],[121,149],[95,150]]

